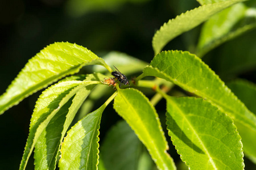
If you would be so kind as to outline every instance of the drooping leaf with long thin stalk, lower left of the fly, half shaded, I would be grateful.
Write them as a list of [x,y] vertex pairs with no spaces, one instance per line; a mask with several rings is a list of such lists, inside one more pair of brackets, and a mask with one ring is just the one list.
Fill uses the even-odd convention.
[[104,105],[87,114],[68,131],[61,145],[60,169],[97,169],[102,112],[116,94],[115,92]]

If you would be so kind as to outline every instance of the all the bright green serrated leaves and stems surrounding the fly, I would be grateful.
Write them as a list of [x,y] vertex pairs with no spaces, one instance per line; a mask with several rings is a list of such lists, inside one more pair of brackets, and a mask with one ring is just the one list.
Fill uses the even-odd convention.
[[[242,1],[199,1],[202,6],[163,24],[153,37],[156,56],[149,65],[118,52],[109,53],[104,60],[69,42],[56,42],[41,50],[0,97],[2,114],[59,80],[36,101],[20,169],[26,168],[33,150],[35,169],[55,169],[56,164],[60,169],[176,169],[168,141],[189,169],[243,169],[243,151],[256,163],[256,145],[252,142],[256,139],[255,84],[240,80],[226,86],[197,57],[255,27],[254,20],[241,24],[252,8]],[[181,50],[160,52],[176,36],[205,20],[197,55]],[[126,75],[143,73],[130,80],[131,87],[119,88],[120,82],[109,79],[113,64]],[[93,66],[97,73],[73,75],[87,65],[100,65],[104,70]],[[142,80],[146,76],[155,78]],[[108,79],[117,83],[114,92],[105,88],[113,85],[104,83]],[[172,93],[175,86],[183,97]],[[154,90],[149,92],[154,94],[151,100],[143,88]],[[96,99],[109,95],[100,108],[90,111]],[[155,109],[162,97],[166,100],[166,128]],[[101,149],[101,119],[112,100],[115,112],[127,124],[118,122]],[[72,125],[80,112],[82,118]]]

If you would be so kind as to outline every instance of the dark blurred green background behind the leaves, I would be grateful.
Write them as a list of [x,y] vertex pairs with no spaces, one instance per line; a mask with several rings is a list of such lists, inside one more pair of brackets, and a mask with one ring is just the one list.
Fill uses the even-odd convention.
[[[154,57],[151,41],[155,31],[169,19],[197,6],[198,2],[186,0],[1,0],[0,93],[5,92],[28,59],[53,42],[76,43],[99,57],[115,50],[150,62]],[[200,27],[176,37],[164,50],[195,52]],[[225,82],[243,78],[256,83],[255,37],[254,29],[212,50],[203,60]],[[0,116],[0,169],[18,169],[40,92]],[[105,116],[102,120],[101,139],[120,119],[109,108],[110,118]],[[156,109],[164,114],[165,105],[158,104]],[[180,160],[178,155],[173,157]],[[245,164],[246,169],[255,168],[247,159]],[[33,160],[27,169],[34,169]]]

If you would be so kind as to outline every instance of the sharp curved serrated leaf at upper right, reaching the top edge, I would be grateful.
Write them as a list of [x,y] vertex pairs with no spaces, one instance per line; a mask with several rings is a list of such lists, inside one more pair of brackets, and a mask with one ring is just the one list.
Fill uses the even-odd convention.
[[210,16],[220,12],[224,8],[242,1],[244,0],[226,1],[199,6],[191,11],[187,11],[184,14],[176,16],[175,19],[169,20],[167,23],[164,23],[164,25],[155,33],[152,40],[152,46],[155,54],[158,54],[163,47],[176,36],[195,28],[197,25],[210,18]]

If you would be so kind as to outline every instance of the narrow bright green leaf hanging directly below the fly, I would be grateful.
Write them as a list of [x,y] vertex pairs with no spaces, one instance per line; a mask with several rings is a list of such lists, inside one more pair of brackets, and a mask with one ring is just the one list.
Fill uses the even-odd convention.
[[142,92],[133,88],[118,90],[114,109],[135,131],[159,169],[176,169],[166,152],[168,145],[158,114]]

